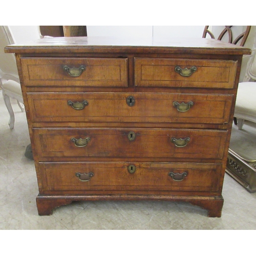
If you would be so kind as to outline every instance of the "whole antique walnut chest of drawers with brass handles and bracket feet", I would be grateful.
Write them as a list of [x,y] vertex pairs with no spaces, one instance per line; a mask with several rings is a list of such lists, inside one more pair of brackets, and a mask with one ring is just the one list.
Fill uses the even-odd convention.
[[12,45],[39,215],[80,200],[186,201],[220,217],[243,54],[214,39]]

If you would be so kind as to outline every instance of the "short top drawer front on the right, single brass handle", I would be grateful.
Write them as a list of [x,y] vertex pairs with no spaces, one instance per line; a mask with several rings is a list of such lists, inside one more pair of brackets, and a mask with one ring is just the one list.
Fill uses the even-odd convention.
[[135,58],[135,86],[233,88],[237,61]]

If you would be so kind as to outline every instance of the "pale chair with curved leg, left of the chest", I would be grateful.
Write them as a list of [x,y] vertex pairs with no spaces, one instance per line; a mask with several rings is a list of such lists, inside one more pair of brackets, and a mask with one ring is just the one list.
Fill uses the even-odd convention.
[[25,111],[22,97],[22,90],[19,84],[18,71],[14,54],[6,54],[4,48],[7,45],[15,44],[9,26],[0,26],[0,86],[6,108],[10,115],[10,129],[14,127],[14,113],[10,98],[16,99],[22,112]]

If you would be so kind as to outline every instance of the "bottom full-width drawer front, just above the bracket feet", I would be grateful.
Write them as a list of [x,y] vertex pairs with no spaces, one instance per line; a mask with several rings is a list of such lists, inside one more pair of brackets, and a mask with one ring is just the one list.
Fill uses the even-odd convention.
[[[131,167],[132,166],[132,167]],[[44,190],[217,191],[221,164],[39,163]]]

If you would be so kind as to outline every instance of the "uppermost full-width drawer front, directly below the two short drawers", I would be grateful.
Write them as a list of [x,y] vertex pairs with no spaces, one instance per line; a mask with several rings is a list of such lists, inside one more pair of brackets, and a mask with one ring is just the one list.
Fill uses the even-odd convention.
[[[185,93],[28,93],[27,96],[34,122],[224,124],[229,122],[233,100],[233,95]],[[76,102],[80,105],[76,106]]]

